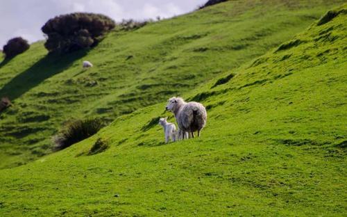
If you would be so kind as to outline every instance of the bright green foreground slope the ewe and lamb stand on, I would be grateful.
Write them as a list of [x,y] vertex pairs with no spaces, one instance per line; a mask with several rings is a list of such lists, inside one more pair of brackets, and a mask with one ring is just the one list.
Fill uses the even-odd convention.
[[185,95],[210,108],[202,138],[164,145],[157,104],[1,170],[1,216],[344,216],[346,9]]

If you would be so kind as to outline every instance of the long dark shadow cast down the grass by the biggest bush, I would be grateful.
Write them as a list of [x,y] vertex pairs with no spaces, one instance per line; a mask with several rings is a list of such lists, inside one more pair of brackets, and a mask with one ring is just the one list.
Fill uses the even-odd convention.
[[[74,61],[82,58],[86,54],[86,50],[65,55],[47,54],[40,61],[37,61],[37,63],[28,68],[28,70],[18,74],[17,77],[6,83],[0,90],[0,97],[6,96],[13,101],[46,79],[66,70]],[[6,64],[3,62],[1,65]]]

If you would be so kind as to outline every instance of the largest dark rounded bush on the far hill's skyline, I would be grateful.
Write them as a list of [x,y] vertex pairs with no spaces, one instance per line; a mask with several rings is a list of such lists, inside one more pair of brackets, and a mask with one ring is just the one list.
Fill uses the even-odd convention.
[[42,32],[47,36],[44,47],[50,52],[59,53],[93,47],[115,25],[112,19],[100,14],[60,15],[42,26]]

